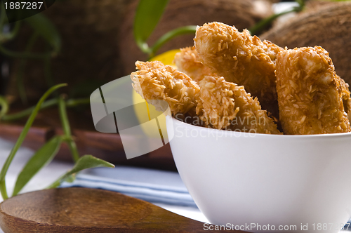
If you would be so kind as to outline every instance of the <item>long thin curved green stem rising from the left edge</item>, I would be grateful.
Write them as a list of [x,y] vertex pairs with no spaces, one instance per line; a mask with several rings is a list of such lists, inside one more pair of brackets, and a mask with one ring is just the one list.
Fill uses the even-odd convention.
[[25,124],[25,127],[22,130],[22,133],[20,133],[20,137],[18,138],[17,142],[13,146],[13,149],[11,150],[10,154],[8,155],[8,157],[5,161],[5,164],[2,167],[1,172],[0,172],[0,192],[1,192],[1,196],[3,197],[3,199],[8,199],[5,177],[6,177],[6,173],[8,171],[8,168],[10,167],[11,162],[13,161],[13,158],[15,157],[15,154],[17,153],[18,149],[22,145],[22,142],[25,140],[25,137],[27,136],[29,128],[32,126],[34,119],[37,116],[39,109],[41,108],[41,105],[43,104],[43,102],[46,100],[46,98],[48,98],[49,95],[51,95],[51,93],[53,91],[55,91],[58,88],[61,88],[62,86],[67,86],[67,84],[58,84],[56,86],[53,86],[52,88],[48,89],[48,91],[46,91],[46,93],[44,93],[44,95],[40,98],[40,100],[37,103],[36,107],[34,108],[32,114],[29,116],[27,123]]

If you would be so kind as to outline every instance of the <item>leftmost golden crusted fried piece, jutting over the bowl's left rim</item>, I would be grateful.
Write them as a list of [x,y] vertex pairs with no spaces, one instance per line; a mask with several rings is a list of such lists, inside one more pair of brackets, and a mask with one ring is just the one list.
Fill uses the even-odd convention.
[[[162,62],[135,62],[139,69],[131,73],[133,88],[145,100],[164,100],[168,102],[172,114],[195,114],[196,95],[199,86],[186,74]],[[155,101],[150,102],[157,105]],[[158,107],[158,106],[155,106]]]

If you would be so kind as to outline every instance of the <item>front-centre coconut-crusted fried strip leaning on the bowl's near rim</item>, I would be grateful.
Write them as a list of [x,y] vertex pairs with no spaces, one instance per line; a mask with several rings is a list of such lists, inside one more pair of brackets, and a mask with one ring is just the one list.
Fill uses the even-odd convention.
[[197,114],[208,126],[249,133],[282,134],[257,98],[244,86],[227,82],[223,77],[205,76],[199,83]]

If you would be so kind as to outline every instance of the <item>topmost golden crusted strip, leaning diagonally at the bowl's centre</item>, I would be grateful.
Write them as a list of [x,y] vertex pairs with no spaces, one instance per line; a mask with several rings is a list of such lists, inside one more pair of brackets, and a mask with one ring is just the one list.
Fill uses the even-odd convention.
[[260,41],[244,29],[220,22],[197,28],[194,38],[199,60],[225,80],[242,85],[258,97],[264,109],[277,115],[277,91],[274,75],[277,53],[283,48]]

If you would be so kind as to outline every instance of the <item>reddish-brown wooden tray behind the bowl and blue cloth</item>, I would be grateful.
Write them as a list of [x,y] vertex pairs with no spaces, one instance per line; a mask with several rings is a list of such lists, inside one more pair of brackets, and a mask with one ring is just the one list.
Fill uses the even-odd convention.
[[[22,132],[26,120],[27,118],[15,122],[1,122],[0,138],[15,142]],[[141,157],[126,159],[119,134],[95,131],[90,112],[77,113],[70,111],[69,121],[81,155],[92,154],[100,159],[110,161],[112,164],[176,171],[176,164],[174,164],[169,145]],[[62,133],[57,109],[55,107],[45,109],[37,116],[23,145],[37,150],[53,135]],[[55,159],[72,161],[67,145],[62,145]]]

